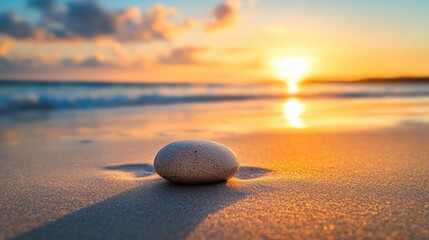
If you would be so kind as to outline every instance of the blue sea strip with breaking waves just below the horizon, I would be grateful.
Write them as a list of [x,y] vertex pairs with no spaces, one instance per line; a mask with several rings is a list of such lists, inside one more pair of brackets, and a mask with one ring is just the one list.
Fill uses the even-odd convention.
[[[282,84],[0,81],[0,112],[112,108],[290,97]],[[311,84],[300,99],[427,98],[425,84]]]

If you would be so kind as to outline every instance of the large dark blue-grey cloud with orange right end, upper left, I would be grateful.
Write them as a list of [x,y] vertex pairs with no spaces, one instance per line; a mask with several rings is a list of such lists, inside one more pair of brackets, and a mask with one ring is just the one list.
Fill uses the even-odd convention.
[[21,40],[74,40],[107,37],[127,41],[169,41],[195,26],[191,19],[180,19],[172,7],[155,5],[142,12],[133,6],[108,10],[97,1],[29,0],[27,5],[41,13],[41,22],[32,25],[16,14],[0,14],[0,34]]

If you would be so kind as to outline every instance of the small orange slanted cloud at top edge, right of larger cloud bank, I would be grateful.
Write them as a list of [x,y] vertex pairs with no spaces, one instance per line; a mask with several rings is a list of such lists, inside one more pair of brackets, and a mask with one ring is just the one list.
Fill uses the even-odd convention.
[[206,26],[208,32],[231,27],[238,19],[241,2],[226,1],[219,5],[213,12],[213,21]]

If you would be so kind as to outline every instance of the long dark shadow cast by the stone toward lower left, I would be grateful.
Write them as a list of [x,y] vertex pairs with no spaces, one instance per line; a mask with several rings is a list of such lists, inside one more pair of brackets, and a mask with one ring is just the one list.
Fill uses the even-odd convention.
[[227,186],[154,179],[15,239],[185,239],[209,214],[246,197]]

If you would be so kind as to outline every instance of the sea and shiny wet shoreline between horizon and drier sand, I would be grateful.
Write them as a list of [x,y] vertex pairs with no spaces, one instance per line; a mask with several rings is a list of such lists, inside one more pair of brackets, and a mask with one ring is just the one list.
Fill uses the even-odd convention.
[[0,81],[0,147],[429,124],[429,84]]

